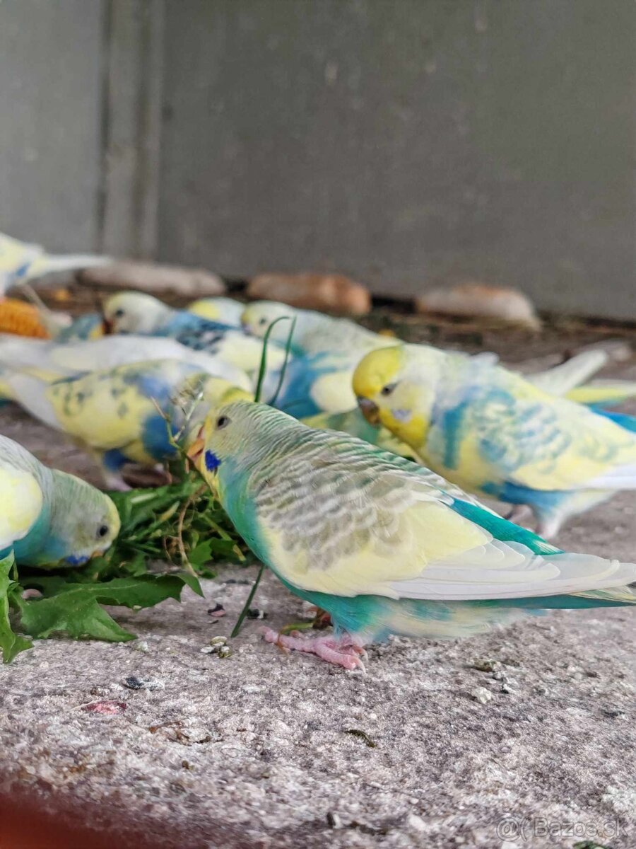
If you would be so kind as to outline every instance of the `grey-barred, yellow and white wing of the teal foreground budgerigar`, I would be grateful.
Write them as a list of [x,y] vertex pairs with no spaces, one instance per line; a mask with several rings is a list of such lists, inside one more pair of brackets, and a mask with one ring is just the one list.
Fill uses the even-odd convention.
[[[438,489],[427,469],[321,436],[276,458],[276,469],[254,474],[249,486],[270,565],[298,588],[500,599],[627,582],[615,563],[552,556],[558,549],[531,531]],[[636,578],[636,567],[628,576]]]

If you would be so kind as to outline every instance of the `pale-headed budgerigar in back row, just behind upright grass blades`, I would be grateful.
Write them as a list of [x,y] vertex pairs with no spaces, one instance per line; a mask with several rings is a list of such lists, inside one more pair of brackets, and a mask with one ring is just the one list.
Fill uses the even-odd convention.
[[[277,301],[254,301],[248,304],[241,316],[247,333],[263,338],[271,323],[287,316],[294,318],[292,350],[296,354],[315,355],[322,353],[349,354],[360,359],[367,351],[395,345],[395,340],[360,327],[349,318],[332,318],[323,312],[299,310]],[[272,329],[270,339],[283,345],[287,342],[290,323],[278,322]]]

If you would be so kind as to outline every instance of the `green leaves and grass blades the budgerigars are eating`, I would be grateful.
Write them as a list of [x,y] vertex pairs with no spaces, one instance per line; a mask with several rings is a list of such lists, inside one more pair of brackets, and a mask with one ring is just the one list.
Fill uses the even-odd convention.
[[[265,378],[272,327],[263,340],[256,400]],[[271,403],[282,386],[292,335],[293,326]],[[200,395],[191,400],[190,412],[201,400]],[[18,567],[13,555],[0,559],[0,650],[5,662],[31,648],[33,638],[64,634],[110,642],[134,639],[135,635],[114,621],[104,605],[141,610],[165,599],[181,599],[185,587],[203,595],[198,579],[215,575],[215,560],[246,561],[247,549],[241,537],[215,495],[191,468],[181,446],[190,419],[187,411],[183,412],[186,424],[176,436],[166,422],[176,449],[174,470],[178,480],[152,489],[110,493],[120,514],[121,529],[103,556],[79,569],[47,572]],[[261,566],[233,634],[241,627],[264,568]]]

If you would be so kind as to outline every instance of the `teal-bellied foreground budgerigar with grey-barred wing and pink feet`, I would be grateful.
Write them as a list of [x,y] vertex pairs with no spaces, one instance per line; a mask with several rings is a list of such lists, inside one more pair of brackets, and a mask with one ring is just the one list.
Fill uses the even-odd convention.
[[335,627],[265,638],[347,669],[391,633],[455,638],[528,612],[636,603],[636,565],[563,552],[429,469],[263,404],[215,408],[192,453],[254,554]]

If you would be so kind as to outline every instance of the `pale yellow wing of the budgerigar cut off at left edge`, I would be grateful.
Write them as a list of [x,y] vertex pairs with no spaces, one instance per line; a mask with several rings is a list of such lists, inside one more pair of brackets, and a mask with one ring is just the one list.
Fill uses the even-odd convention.
[[25,469],[0,468],[0,551],[31,530],[42,512],[42,489]]

